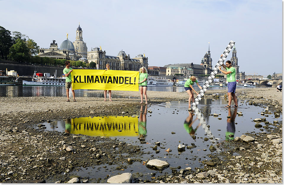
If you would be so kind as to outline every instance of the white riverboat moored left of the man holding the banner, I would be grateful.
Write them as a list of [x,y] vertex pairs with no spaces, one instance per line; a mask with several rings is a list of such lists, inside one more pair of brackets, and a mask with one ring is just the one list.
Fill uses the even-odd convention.
[[37,77],[32,81],[23,80],[23,86],[65,86],[65,78],[54,78],[54,77]]

